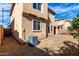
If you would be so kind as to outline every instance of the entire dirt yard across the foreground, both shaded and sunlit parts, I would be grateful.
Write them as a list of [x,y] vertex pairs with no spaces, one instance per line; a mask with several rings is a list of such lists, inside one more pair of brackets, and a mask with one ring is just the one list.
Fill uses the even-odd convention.
[[79,55],[78,39],[70,35],[49,36],[36,47],[19,44],[13,37],[5,37],[0,55],[9,56],[63,56]]

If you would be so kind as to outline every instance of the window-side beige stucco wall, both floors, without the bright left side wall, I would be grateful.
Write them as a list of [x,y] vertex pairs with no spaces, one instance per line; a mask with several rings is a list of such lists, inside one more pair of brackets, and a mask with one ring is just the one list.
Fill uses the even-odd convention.
[[[33,15],[36,15],[37,18],[42,17],[46,20],[48,19],[48,17],[47,17],[48,16],[48,9],[47,8],[48,8],[47,3],[42,4],[42,11],[34,9],[33,3],[23,3],[23,12],[31,13]],[[45,20],[36,19],[41,22],[41,31],[32,31],[33,19],[36,19],[36,18],[33,18],[32,16],[22,18],[22,29],[23,29],[23,31],[25,30],[25,32],[22,32],[22,35],[23,35],[22,37],[25,42],[28,41],[28,37],[30,35],[38,36],[39,39],[46,38],[46,22],[45,22]]]

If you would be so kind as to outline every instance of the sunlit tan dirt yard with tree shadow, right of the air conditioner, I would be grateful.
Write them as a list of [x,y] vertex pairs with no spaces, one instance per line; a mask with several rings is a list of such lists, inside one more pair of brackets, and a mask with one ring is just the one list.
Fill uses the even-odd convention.
[[37,47],[45,48],[50,55],[79,55],[79,39],[71,35],[54,35],[40,41]]

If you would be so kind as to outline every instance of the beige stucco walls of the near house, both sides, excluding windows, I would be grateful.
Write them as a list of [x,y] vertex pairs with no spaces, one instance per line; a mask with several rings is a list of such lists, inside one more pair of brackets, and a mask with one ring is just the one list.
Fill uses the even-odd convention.
[[[32,3],[17,3],[14,6],[12,15],[11,15],[11,28],[13,32],[13,36],[16,39],[21,39],[22,41],[26,42],[30,35],[36,35],[41,38],[46,38],[46,21],[44,19],[39,19],[41,22],[41,31],[34,32],[32,31],[32,20],[35,19],[31,17],[23,17],[23,12],[32,13],[37,17],[43,17],[44,19],[48,19],[48,9],[47,4],[43,4],[43,12],[33,9]],[[31,19],[31,20],[30,20]],[[37,19],[38,20],[38,19]],[[13,22],[14,21],[14,22]],[[24,33],[25,31],[25,33]]]

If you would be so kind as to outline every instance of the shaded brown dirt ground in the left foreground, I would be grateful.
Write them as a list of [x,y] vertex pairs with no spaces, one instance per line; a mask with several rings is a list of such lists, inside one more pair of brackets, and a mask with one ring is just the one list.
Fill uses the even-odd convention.
[[0,47],[1,56],[48,56],[45,51],[28,45],[19,44],[13,37],[5,37]]

